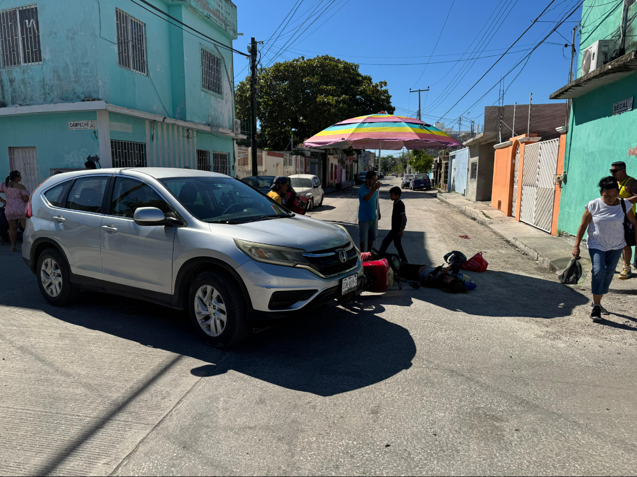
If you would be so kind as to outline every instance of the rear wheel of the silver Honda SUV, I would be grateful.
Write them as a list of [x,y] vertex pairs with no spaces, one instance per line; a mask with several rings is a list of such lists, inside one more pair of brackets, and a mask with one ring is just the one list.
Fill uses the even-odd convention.
[[40,293],[55,307],[70,305],[80,296],[80,289],[71,285],[69,264],[58,249],[50,247],[40,254],[36,277]]

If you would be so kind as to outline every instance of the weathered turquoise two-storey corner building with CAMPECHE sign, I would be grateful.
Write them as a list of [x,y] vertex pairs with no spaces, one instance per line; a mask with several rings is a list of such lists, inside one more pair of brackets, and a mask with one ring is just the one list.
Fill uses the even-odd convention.
[[3,1],[0,170],[30,190],[87,156],[234,175],[237,38],[230,0]]

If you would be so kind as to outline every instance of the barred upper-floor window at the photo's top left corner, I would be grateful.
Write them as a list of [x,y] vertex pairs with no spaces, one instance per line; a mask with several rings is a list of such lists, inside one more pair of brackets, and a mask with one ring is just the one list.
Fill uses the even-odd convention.
[[0,67],[41,63],[38,4],[0,10]]

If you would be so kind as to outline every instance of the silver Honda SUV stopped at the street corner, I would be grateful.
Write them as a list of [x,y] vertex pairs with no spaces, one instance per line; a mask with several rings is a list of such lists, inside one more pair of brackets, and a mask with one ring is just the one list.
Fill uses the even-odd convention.
[[[188,310],[215,347],[355,291],[360,254],[340,225],[292,214],[233,177],[189,169],[66,172],[27,204],[22,257],[52,305],[83,289]],[[362,282],[362,280],[361,280]]]

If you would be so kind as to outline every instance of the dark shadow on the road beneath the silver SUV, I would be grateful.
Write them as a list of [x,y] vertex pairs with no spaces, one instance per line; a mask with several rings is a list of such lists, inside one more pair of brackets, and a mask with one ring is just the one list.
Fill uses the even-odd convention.
[[[334,304],[276,322],[228,352],[200,342],[190,322],[171,308],[109,294],[86,292],[83,303],[50,307],[34,287],[34,300],[11,305],[38,308],[76,326],[142,345],[191,356],[208,364],[192,373],[234,370],[296,391],[332,396],[390,378],[412,366],[416,345],[409,331],[376,313],[380,305],[343,310]],[[382,300],[382,296],[378,297]],[[412,302],[404,297],[405,305]],[[378,301],[378,300],[374,300]]]

